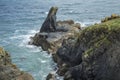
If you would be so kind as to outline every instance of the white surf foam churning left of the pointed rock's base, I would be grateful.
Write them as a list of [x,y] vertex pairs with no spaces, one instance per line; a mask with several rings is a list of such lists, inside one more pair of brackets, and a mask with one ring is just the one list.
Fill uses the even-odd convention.
[[[24,32],[25,34],[21,34],[21,32]],[[10,37],[10,39],[13,41],[19,41],[18,43],[16,43],[19,47],[34,48],[35,46],[28,45],[28,42],[30,41],[30,37],[34,36],[37,32],[37,30],[16,30],[14,32],[14,35]]]

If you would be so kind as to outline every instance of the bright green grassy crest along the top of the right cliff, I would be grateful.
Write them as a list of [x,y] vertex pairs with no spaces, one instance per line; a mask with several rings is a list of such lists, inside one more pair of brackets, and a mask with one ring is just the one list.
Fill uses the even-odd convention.
[[117,34],[120,33],[120,18],[87,27],[80,33],[78,42],[83,41],[87,43],[97,38],[99,40],[102,37],[109,37],[115,32]]

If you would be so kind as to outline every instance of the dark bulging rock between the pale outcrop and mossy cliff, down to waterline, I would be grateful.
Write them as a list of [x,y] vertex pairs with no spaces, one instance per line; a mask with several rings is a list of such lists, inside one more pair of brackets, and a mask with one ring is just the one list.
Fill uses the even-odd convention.
[[[81,49],[75,49],[76,38],[68,38],[63,40],[62,46],[57,50],[57,64],[58,64],[58,74],[64,75],[69,68],[79,65],[82,62]],[[65,66],[63,66],[66,64]]]

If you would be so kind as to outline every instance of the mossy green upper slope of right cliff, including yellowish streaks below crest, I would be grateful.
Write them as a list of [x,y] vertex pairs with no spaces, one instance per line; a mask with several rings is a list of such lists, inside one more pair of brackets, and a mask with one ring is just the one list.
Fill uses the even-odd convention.
[[[86,47],[84,58],[88,58],[97,50],[107,48],[120,41],[120,18],[115,18],[87,27],[81,31],[77,45]],[[96,54],[98,55],[98,54]]]

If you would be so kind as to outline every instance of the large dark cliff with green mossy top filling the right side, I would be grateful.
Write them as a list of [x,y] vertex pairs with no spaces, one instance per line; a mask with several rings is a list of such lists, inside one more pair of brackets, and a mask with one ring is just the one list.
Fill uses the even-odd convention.
[[65,80],[120,79],[120,18],[89,26],[73,40],[56,53]]

